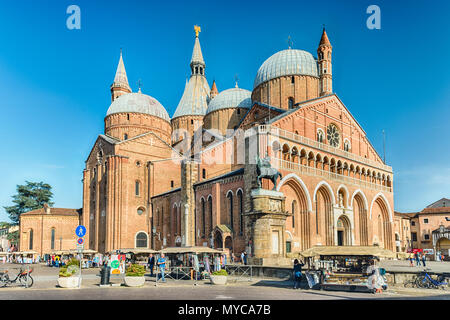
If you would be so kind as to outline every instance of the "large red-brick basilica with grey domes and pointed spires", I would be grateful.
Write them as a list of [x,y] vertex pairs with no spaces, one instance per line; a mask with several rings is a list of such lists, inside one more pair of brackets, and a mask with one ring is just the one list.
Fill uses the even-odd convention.
[[[314,55],[276,52],[252,90],[219,91],[196,26],[191,75],[170,117],[132,92],[121,53],[83,171],[86,247],[209,246],[265,259],[315,245],[394,250],[393,171],[333,92],[332,56],[323,29]],[[258,184],[256,159],[275,181]]]

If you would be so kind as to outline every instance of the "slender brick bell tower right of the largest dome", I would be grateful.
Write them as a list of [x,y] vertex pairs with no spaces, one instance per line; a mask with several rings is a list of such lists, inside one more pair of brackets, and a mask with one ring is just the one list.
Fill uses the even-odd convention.
[[333,47],[328,40],[327,32],[323,27],[322,38],[320,39],[319,48],[317,49],[318,66],[319,66],[319,95],[324,96],[333,93],[333,73],[331,65],[331,55]]

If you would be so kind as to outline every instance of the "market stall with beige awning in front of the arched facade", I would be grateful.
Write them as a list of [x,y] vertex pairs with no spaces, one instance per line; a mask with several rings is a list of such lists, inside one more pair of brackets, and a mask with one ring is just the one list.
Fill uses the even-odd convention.
[[318,275],[321,289],[358,292],[372,292],[367,273],[371,261],[396,258],[376,246],[315,246],[300,255],[307,259],[310,275]]

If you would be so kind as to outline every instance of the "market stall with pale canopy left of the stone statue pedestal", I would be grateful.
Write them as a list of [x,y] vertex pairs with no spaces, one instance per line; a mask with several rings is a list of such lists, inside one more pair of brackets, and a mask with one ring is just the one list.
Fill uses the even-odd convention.
[[168,276],[176,280],[207,278],[217,264],[215,258],[224,254],[208,247],[171,247],[159,253],[166,256]]

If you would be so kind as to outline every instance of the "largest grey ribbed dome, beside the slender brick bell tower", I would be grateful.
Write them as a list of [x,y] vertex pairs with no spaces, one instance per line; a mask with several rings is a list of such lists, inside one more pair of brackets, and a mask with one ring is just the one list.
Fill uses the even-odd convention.
[[253,88],[271,79],[292,75],[319,76],[317,62],[311,53],[295,49],[275,53],[259,68]]

